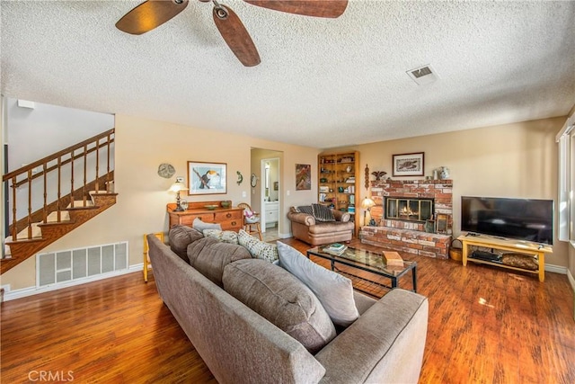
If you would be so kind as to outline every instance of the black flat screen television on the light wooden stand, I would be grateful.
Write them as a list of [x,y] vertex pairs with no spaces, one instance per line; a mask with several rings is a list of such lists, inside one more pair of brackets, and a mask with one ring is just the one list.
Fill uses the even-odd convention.
[[462,196],[461,230],[553,245],[553,200]]

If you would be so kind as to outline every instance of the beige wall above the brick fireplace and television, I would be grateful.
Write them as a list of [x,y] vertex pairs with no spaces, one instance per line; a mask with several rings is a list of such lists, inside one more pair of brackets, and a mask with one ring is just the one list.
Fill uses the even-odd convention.
[[[462,195],[557,199],[555,135],[565,118],[460,130],[350,147],[361,152],[361,169],[392,174],[392,155],[425,152],[425,174],[445,165],[454,180],[454,229],[460,231]],[[360,185],[364,185],[363,172]],[[372,176],[373,178],[373,176]],[[367,195],[361,189],[361,199]],[[555,237],[547,263],[568,265],[568,247]]]

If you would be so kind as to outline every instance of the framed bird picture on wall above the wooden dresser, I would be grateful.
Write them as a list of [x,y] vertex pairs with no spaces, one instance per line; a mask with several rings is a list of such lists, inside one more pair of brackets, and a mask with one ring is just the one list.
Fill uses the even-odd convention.
[[188,195],[227,193],[227,164],[188,162]]

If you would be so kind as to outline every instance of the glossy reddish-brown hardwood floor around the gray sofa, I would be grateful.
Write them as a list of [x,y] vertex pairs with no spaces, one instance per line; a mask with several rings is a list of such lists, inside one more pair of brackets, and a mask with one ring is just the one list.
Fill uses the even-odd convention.
[[[429,297],[421,383],[575,382],[565,275],[547,272],[540,283],[479,264],[411,260],[418,292]],[[400,287],[411,289],[411,275]],[[140,272],[7,301],[1,315],[2,383],[216,381],[158,298],[154,279],[145,283]]]

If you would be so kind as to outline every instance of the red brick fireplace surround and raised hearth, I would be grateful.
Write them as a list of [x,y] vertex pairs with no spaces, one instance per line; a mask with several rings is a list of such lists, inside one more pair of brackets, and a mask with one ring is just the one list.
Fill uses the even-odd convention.
[[[435,201],[435,213],[447,215],[445,234],[427,233],[424,223],[384,219],[384,198],[428,198]],[[362,227],[361,241],[399,252],[447,259],[453,227],[452,180],[382,180],[371,182],[371,197],[376,206],[371,216],[379,227]]]

